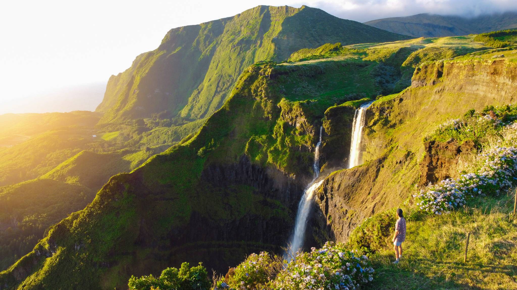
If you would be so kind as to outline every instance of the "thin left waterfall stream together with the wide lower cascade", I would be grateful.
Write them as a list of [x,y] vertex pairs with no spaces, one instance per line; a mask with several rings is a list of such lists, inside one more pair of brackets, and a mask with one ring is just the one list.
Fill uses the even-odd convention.
[[318,188],[323,180],[316,182],[318,177],[320,176],[320,146],[322,143],[322,130],[323,126],[320,127],[320,141],[316,144],[316,149],[314,150],[314,164],[312,168],[314,169],[314,178],[311,183],[307,185],[305,191],[303,192],[303,196],[301,197],[300,203],[298,204],[298,212],[296,213],[296,222],[294,227],[294,236],[291,241],[291,249],[288,249],[288,253],[285,255],[285,259],[287,261],[291,260],[291,256],[294,256],[296,251],[298,251],[303,246],[303,238],[305,237],[305,230],[307,228],[307,218],[309,217],[309,213],[312,205],[312,198],[314,196],[314,191]]

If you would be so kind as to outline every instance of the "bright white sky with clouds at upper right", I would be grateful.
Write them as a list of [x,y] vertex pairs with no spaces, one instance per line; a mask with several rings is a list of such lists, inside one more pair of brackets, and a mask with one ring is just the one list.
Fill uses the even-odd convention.
[[[98,88],[110,75],[156,49],[171,28],[230,17],[257,5],[307,5],[360,22],[425,12],[470,17],[517,10],[515,0],[3,1],[0,114],[94,110],[102,100]],[[54,93],[70,94],[69,105],[58,106],[63,99],[51,98]]]

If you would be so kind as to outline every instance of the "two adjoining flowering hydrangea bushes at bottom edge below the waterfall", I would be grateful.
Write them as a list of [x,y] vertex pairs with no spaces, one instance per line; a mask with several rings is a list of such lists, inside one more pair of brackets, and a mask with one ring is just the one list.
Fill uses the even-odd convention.
[[277,258],[266,252],[251,254],[214,290],[352,290],[373,280],[368,257],[346,250],[344,244],[327,242],[319,250],[298,252],[286,265],[278,265]]

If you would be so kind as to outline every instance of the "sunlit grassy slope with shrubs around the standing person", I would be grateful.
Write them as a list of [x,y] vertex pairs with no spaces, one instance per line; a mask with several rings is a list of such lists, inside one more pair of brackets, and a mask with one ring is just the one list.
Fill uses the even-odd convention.
[[[517,267],[515,267],[517,252],[514,229],[517,227],[517,219],[511,213],[515,193],[515,187],[512,187],[516,177],[513,169],[515,165],[511,162],[511,158],[499,157],[494,163],[490,158],[486,159],[483,154],[483,151],[497,151],[498,148],[515,143],[517,130],[513,121],[507,125],[497,123],[497,120],[503,118],[514,119],[514,114],[504,114],[504,112],[513,111],[513,107],[485,108],[484,111],[490,111],[494,117],[496,116],[494,111],[498,112],[497,119],[490,121],[490,126],[498,127],[498,130],[489,131],[479,137],[481,145],[479,155],[465,156],[458,168],[459,171],[464,172],[479,168],[487,162],[496,167],[507,164],[506,168],[503,166],[494,170],[501,178],[495,178],[474,187],[462,185],[460,182],[449,182],[447,184],[449,189],[464,195],[466,195],[465,190],[470,190],[473,191],[473,196],[468,196],[462,206],[455,205],[443,215],[442,212],[439,215],[422,212],[421,198],[418,195],[416,198],[409,198],[402,205],[408,217],[408,228],[400,265],[394,267],[389,260],[392,256],[389,239],[394,228],[394,210],[377,213],[354,230],[349,238],[349,246],[372,253],[371,260],[374,268],[377,272],[382,272],[376,275],[372,288],[392,289],[403,286],[414,289],[444,287],[511,289],[515,287],[513,277],[517,273]],[[471,110],[464,118],[475,121],[480,118],[478,116],[474,114],[474,110]],[[458,134],[459,131],[470,134],[474,130],[481,132],[482,128],[486,128],[486,122],[471,123],[468,128],[454,127],[455,123],[458,121],[439,126],[438,136],[443,136],[444,131],[454,136],[461,136],[462,134]],[[445,185],[439,183],[439,186]],[[430,187],[432,186],[428,186],[425,190]],[[484,194],[476,194],[479,190],[475,189],[481,187]],[[464,263],[463,253],[467,233],[470,233],[470,243],[467,262]]]

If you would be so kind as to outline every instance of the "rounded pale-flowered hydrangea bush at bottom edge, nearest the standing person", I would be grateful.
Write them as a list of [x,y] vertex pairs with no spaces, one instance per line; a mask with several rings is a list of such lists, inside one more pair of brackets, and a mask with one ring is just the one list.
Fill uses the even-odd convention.
[[277,290],[357,289],[373,280],[367,256],[347,251],[343,244],[327,242],[323,248],[296,255],[272,281]]

